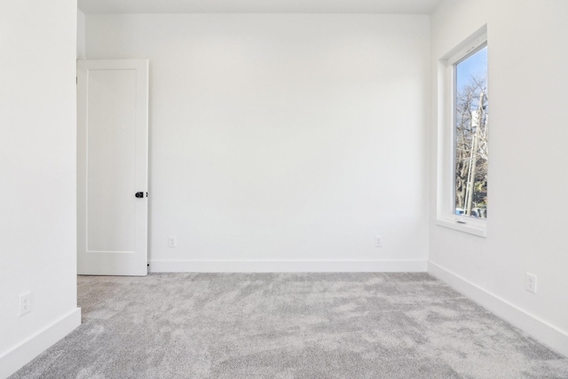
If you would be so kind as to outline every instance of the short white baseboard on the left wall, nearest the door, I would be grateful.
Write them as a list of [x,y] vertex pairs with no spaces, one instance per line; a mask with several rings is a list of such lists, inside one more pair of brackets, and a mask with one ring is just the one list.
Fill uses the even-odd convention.
[[81,325],[81,308],[75,308],[0,357],[0,378],[7,378]]

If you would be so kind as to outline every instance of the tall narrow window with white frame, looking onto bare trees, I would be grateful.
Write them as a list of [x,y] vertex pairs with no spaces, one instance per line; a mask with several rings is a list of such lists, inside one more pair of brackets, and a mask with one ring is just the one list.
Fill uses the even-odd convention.
[[486,28],[438,67],[438,225],[485,237],[487,218]]

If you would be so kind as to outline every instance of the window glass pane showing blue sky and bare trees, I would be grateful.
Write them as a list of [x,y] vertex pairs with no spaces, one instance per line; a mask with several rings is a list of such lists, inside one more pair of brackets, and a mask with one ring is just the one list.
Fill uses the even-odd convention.
[[454,214],[487,217],[487,46],[454,64]]

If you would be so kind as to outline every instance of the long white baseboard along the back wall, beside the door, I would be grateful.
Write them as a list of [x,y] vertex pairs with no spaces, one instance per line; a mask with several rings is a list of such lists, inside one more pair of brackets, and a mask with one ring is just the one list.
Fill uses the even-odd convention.
[[149,272],[426,272],[425,260],[151,260]]

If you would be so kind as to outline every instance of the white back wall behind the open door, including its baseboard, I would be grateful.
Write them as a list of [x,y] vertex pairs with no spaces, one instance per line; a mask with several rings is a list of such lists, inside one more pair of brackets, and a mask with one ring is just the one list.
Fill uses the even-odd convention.
[[427,16],[87,15],[86,39],[150,59],[151,270],[426,269]]

